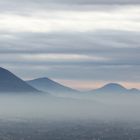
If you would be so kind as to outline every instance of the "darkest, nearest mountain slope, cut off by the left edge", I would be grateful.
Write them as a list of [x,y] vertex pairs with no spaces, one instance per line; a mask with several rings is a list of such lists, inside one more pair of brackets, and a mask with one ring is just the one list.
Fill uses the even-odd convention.
[[0,67],[0,93],[39,92],[10,71]]

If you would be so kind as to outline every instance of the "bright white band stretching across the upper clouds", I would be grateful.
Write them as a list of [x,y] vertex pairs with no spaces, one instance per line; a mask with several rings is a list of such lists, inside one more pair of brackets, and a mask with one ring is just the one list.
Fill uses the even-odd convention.
[[140,7],[111,11],[43,11],[28,16],[0,14],[0,30],[12,32],[71,32],[102,29],[140,31]]

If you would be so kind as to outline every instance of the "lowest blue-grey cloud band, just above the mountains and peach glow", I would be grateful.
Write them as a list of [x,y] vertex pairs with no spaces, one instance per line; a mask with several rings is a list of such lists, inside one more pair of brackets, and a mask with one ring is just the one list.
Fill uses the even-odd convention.
[[33,65],[14,65],[3,64],[9,70],[19,75],[23,79],[33,79],[38,77],[50,77],[52,79],[66,80],[93,80],[106,82],[140,82],[140,66],[33,66]]

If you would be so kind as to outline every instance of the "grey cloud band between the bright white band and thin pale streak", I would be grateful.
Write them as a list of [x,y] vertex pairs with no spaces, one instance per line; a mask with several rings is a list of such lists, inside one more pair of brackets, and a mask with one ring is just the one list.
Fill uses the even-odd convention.
[[[7,38],[10,35],[11,38]],[[139,52],[139,32],[7,33],[1,37],[1,53],[127,54]],[[130,56],[128,54],[128,56]]]

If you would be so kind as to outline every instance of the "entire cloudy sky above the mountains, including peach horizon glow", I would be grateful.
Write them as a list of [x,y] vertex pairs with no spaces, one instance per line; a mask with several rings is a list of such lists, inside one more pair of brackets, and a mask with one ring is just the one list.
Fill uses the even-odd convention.
[[0,66],[87,90],[140,89],[139,0],[0,1]]

